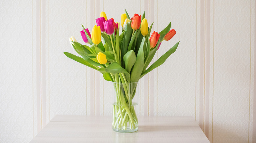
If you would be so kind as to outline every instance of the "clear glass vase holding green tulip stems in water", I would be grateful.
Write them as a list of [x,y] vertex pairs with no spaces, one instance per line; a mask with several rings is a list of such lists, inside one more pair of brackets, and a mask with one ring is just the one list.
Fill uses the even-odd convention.
[[131,133],[138,130],[136,105],[138,105],[138,82],[113,83],[112,128],[116,132]]

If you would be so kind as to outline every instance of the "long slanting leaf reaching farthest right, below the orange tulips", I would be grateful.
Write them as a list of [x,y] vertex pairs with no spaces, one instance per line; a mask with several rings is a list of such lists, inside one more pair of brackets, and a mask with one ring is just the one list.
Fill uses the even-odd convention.
[[154,62],[146,71],[144,71],[140,78],[143,77],[145,74],[147,74],[148,72],[154,70],[155,68],[157,68],[158,66],[160,66],[161,64],[163,64],[165,62],[165,60],[176,51],[178,45],[180,42],[176,43],[169,51],[167,51],[165,54],[163,54],[156,62]]

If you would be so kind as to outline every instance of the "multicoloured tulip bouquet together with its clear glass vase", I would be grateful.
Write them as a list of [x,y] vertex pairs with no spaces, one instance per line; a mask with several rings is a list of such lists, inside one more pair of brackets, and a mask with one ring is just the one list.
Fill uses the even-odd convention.
[[[113,105],[113,129],[138,130],[138,119],[133,107],[135,103],[132,102],[137,83],[175,52],[179,42],[149,66],[161,42],[170,40],[176,31],[170,30],[169,23],[161,32],[154,31],[150,36],[153,23],[148,27],[145,13],[142,16],[134,14],[132,18],[127,12],[122,14],[120,28],[120,23],[114,22],[113,18],[107,19],[106,14],[101,12],[96,24],[91,33],[83,25],[80,31],[82,39],[89,46],[78,43],[73,36],[69,39],[81,57],[68,52],[64,54],[101,72],[105,80],[114,83],[117,98]],[[130,83],[134,86],[130,86]]]

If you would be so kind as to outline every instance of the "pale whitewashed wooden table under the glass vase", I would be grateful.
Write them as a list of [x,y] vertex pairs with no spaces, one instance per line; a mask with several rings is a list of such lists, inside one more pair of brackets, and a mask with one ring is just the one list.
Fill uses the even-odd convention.
[[117,133],[110,116],[55,116],[31,143],[210,143],[191,117],[139,117],[139,130]]

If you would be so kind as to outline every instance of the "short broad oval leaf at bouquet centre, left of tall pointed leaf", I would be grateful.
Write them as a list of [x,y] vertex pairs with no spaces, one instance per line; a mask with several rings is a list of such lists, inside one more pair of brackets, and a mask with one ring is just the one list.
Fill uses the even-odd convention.
[[125,63],[125,70],[130,73],[134,63],[136,62],[136,55],[133,50],[128,51],[124,56],[123,56],[123,61]]

